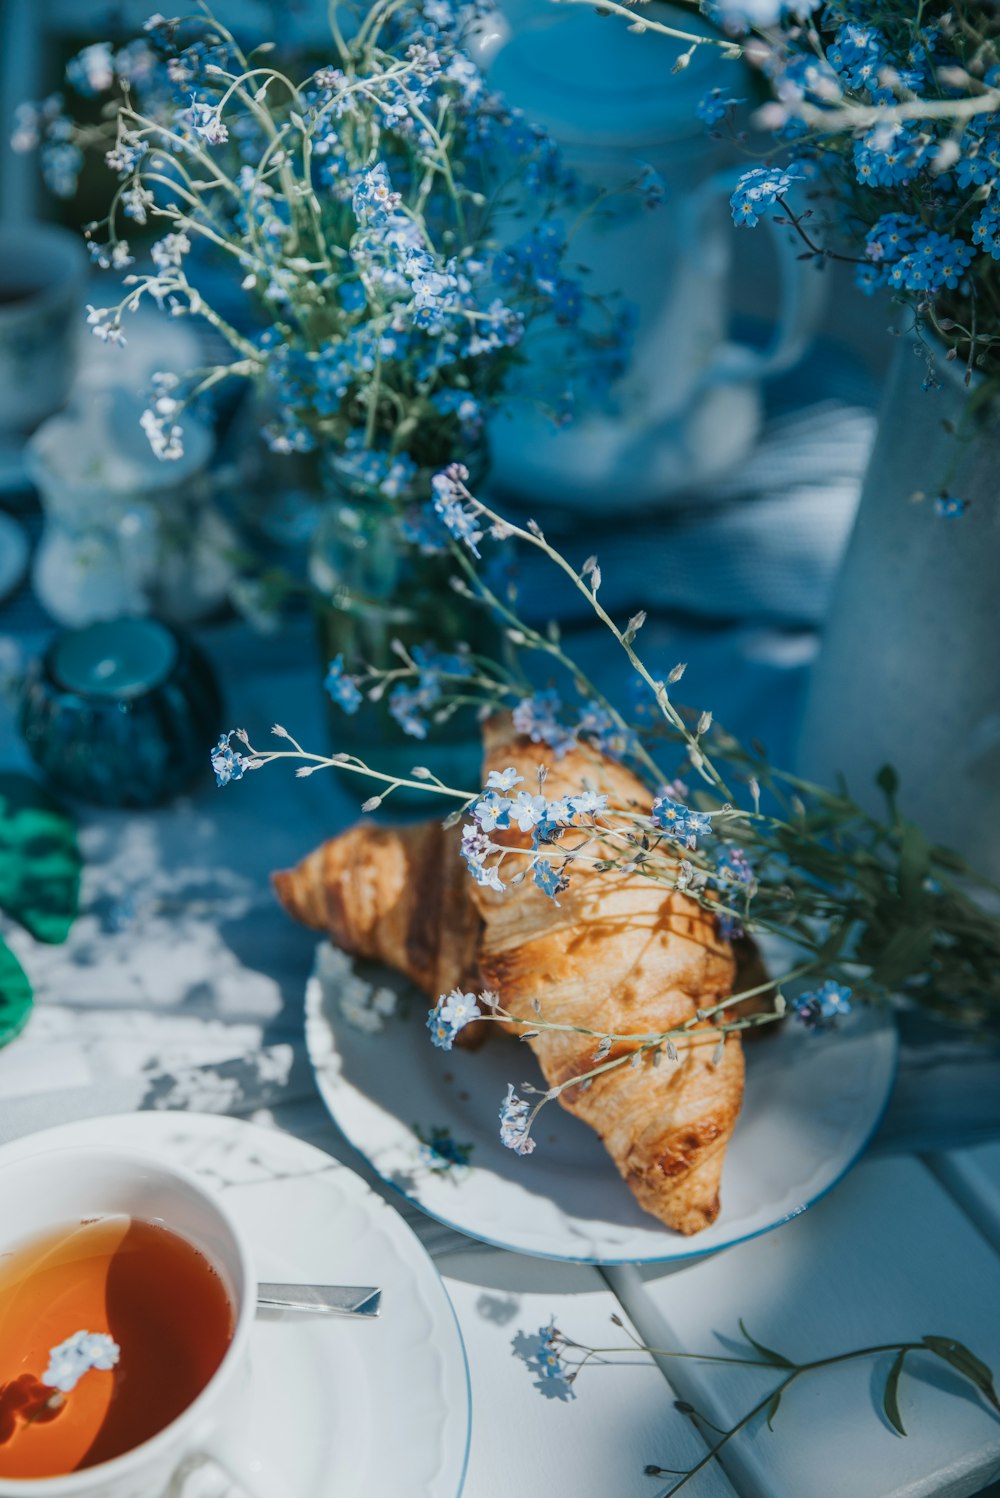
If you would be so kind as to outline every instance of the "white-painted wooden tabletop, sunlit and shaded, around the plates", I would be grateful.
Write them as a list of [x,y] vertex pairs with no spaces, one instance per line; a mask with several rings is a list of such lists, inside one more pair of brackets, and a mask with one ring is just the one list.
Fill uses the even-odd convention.
[[[263,736],[278,719],[325,742],[307,635],[290,661],[287,643],[241,631],[205,643],[232,724]],[[0,762],[24,764],[9,716]],[[70,1118],[192,1107],[271,1122],[364,1174],[302,1050],[314,936],[284,918],[266,881],[352,816],[332,776],[296,782],[277,768],[225,791],[207,783],[153,813],[81,807],[82,912],[69,941],[42,947],[4,924],[37,1008],[0,1052],[0,1141]],[[542,1398],[510,1342],[552,1317],[581,1342],[621,1345],[609,1320],[618,1314],[653,1345],[693,1351],[717,1350],[744,1317],[765,1344],[802,1357],[943,1333],[1000,1369],[1000,1144],[868,1159],[802,1218],[675,1273],[484,1249],[392,1201],[436,1258],[466,1339],[466,1498],[659,1498],[668,1480],[644,1467],[686,1467],[704,1452],[674,1399],[725,1422],[760,1392],[759,1375],[635,1356],[588,1369],[572,1401]],[[754,1425],[725,1470],[707,1468],[686,1492],[966,1498],[1000,1476],[1000,1420],[981,1401],[955,1392],[943,1368],[915,1363],[900,1387],[903,1440],[880,1414],[885,1372],[865,1363],[814,1375],[774,1432]]]

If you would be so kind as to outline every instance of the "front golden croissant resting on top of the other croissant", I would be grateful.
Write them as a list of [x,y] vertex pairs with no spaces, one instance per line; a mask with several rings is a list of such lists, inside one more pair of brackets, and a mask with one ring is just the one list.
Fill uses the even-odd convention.
[[[648,810],[648,791],[621,764],[587,749],[557,758],[513,736],[500,718],[487,727],[484,773],[509,765],[528,783],[543,767],[549,798],[587,785],[608,795],[611,809]],[[518,831],[494,839],[528,843]],[[530,879],[503,894],[473,885],[472,894],[484,917],[482,980],[518,1020],[537,1017],[537,999],[551,1023],[611,1035],[660,1032],[732,992],[732,950],[717,936],[711,912],[642,873],[599,872],[578,858],[558,906]],[[594,1041],[587,1037],[543,1029],[530,1044],[549,1086],[594,1068]],[[612,1049],[611,1058],[626,1049]],[[662,1056],[654,1065],[645,1056],[638,1067],[569,1088],[560,1103],[600,1134],[648,1212],[696,1233],[719,1215],[723,1156],[743,1101],[743,1047],[731,1037],[716,1062],[716,1035],[677,1041],[675,1049],[675,1062]]]

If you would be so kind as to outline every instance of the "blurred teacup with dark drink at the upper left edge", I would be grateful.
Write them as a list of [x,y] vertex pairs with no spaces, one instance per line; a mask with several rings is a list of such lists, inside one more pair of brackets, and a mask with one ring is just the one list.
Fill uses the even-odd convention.
[[66,401],[87,276],[78,234],[54,223],[0,228],[0,434],[31,431]]

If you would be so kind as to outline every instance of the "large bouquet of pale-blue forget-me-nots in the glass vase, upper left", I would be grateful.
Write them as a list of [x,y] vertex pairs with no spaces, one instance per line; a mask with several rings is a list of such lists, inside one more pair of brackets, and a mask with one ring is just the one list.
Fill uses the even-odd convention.
[[[76,124],[60,97],[21,106],[15,147],[40,148],[57,190],[90,150],[115,175],[106,243],[88,231],[99,265],[130,264],[124,220],[166,231],[94,331],[120,342],[123,313],[151,297],[232,349],[150,406],[159,457],[180,455],[192,400],[247,377],[275,451],[322,442],[359,490],[397,499],[475,446],[534,324],[573,331],[569,383],[614,377],[627,319],[567,274],[557,216],[590,205],[546,132],[488,87],[470,51],[484,13],[482,0],[376,0],[341,33],[334,9],[331,57],[302,78],[247,57],[210,13],[153,18],[129,46],[70,61],[100,123]],[[633,187],[662,193],[651,169]],[[246,294],[238,316],[199,289],[207,252]]]

